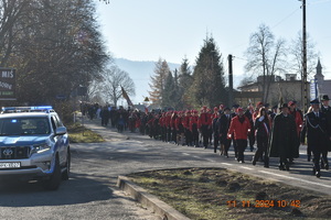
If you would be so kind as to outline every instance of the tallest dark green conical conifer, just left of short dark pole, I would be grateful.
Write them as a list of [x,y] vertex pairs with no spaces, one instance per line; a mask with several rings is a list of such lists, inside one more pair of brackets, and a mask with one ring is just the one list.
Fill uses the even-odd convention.
[[195,107],[215,107],[226,100],[222,55],[213,37],[204,40],[196,58],[190,96]]

